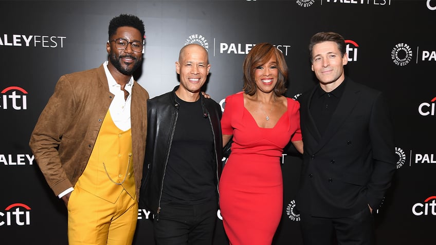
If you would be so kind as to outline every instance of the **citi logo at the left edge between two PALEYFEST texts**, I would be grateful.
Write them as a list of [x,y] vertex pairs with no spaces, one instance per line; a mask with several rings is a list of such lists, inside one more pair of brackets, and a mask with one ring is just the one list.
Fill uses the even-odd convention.
[[[17,94],[17,92],[19,94]],[[0,97],[3,102],[0,108],[7,110],[12,107],[15,110],[27,109],[27,91],[21,87],[11,86],[7,87],[0,92]]]

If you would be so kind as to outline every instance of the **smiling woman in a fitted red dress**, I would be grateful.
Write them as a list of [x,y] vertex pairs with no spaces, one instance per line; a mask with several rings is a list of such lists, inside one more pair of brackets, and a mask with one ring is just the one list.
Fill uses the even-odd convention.
[[289,140],[303,152],[299,103],[283,96],[287,66],[268,43],[244,60],[243,91],[226,98],[221,120],[231,154],[220,179],[220,208],[232,245],[271,244],[283,209],[280,158]]

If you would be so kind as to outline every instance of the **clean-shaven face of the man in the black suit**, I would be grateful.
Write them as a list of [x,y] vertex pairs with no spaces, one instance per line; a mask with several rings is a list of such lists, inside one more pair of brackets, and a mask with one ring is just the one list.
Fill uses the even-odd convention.
[[315,44],[312,51],[312,70],[321,85],[339,86],[344,80],[343,66],[348,63],[348,56],[341,55],[335,42]]

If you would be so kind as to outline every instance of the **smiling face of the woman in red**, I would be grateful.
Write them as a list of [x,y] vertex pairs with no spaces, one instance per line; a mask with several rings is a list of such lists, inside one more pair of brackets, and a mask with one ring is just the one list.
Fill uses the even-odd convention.
[[256,67],[254,78],[257,90],[269,93],[274,90],[279,76],[279,69],[277,68],[277,59],[275,55],[265,64]]

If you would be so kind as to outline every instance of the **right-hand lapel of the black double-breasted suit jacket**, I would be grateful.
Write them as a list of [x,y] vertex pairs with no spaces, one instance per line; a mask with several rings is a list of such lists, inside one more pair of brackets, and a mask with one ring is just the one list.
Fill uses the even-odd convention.
[[360,91],[354,86],[354,83],[348,80],[345,85],[339,104],[319,144],[315,147],[315,152],[318,152],[336,134],[359,100]]

